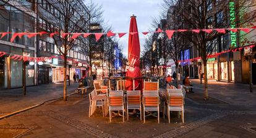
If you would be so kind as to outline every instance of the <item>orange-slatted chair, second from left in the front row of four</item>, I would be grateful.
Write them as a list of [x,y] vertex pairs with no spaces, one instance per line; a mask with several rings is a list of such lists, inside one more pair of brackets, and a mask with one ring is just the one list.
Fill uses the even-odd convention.
[[129,120],[129,109],[140,110],[140,120],[142,120],[142,104],[140,91],[127,91],[126,99],[127,120]]

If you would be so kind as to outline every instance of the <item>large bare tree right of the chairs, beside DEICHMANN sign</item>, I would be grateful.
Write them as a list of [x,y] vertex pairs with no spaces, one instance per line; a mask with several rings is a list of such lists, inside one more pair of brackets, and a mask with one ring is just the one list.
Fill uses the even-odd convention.
[[[229,1],[219,0],[163,0],[166,6],[174,6],[176,10],[181,11],[176,13],[177,23],[181,26],[180,29],[211,29],[211,28],[228,28],[232,27],[229,20]],[[255,19],[255,11],[248,12],[248,8],[254,6],[252,0],[241,0],[235,2],[234,9],[236,20],[235,25],[238,27],[249,26],[249,23]],[[223,31],[223,30],[221,30]],[[204,78],[204,97],[208,99],[208,81],[207,81],[207,60],[214,49],[216,49],[216,42],[221,37],[227,37],[226,32],[211,31],[207,33],[200,31],[199,33],[186,32],[181,33],[190,43],[197,47],[199,55],[203,60]],[[226,42],[228,44],[228,42]],[[230,47],[234,45],[230,44]]]

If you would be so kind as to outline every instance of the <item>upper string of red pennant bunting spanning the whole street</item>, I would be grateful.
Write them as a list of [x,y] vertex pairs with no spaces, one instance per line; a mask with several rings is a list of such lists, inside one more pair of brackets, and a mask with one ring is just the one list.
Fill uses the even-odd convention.
[[[254,30],[256,28],[256,26],[252,26],[250,28],[215,28],[215,29],[193,29],[193,30],[161,30],[160,28],[158,28],[158,30],[156,31],[143,31],[142,34],[147,35],[148,33],[166,33],[168,38],[171,39],[173,37],[173,34],[176,32],[192,32],[192,33],[200,33],[200,32],[205,32],[205,33],[212,33],[213,31],[216,31],[217,33],[227,33],[228,31],[233,31],[233,32],[237,32],[237,31],[243,31],[245,33],[249,33],[250,31]],[[83,36],[83,38],[87,38],[90,35],[94,35],[96,38],[96,41],[98,41],[103,35],[106,35],[107,37],[111,37],[111,36],[116,36],[116,34],[118,35],[119,38],[122,38],[122,36],[126,35],[126,34],[130,34],[130,35],[134,35],[134,34],[138,34],[139,32],[129,32],[129,33],[113,33],[112,31],[108,31],[108,33],[59,33],[59,32],[53,32],[53,33],[48,33],[46,31],[41,31],[39,33],[30,33],[30,32],[2,32],[0,33],[0,38],[4,38],[5,36],[7,36],[7,34],[12,34],[11,37],[11,43],[14,42],[15,38],[19,37],[22,38],[22,36],[27,36],[28,38],[33,38],[36,35],[49,35],[50,38],[53,38],[54,35],[58,35],[61,34],[62,38],[66,37],[66,36],[71,36],[72,39],[77,39],[79,36]]]

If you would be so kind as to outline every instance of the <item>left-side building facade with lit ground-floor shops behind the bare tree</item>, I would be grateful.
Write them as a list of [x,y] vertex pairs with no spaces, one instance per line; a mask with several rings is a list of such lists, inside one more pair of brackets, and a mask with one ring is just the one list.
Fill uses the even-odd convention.
[[[28,38],[26,35],[16,37],[10,42],[14,32],[40,32],[50,33],[47,26],[57,27],[48,22],[51,18],[60,18],[58,0],[34,0],[34,1],[0,1],[0,32],[8,32],[0,39],[0,51],[7,55],[0,57],[0,89],[22,87],[22,79],[25,77],[26,86],[48,84],[63,81],[63,59],[59,54],[52,38],[48,35],[36,35]],[[83,18],[86,24],[81,28],[81,33],[88,33],[90,26],[90,12],[82,1],[77,0],[73,4],[77,18]],[[44,14],[41,14],[44,13]],[[84,26],[84,25],[83,25]],[[79,27],[79,26],[78,26]],[[79,47],[85,46],[87,41],[76,41],[75,47],[70,50],[68,75],[77,74],[77,78],[85,75],[87,62],[85,55]],[[45,60],[41,63],[29,63],[23,65],[22,60],[10,59],[10,54],[25,55],[28,57],[56,57],[53,60]],[[25,76],[22,71],[25,68]],[[72,78],[72,77],[70,77]]]

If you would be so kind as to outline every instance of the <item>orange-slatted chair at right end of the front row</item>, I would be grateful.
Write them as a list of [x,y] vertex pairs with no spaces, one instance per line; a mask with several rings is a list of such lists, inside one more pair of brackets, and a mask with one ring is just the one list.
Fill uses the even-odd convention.
[[184,96],[182,93],[182,89],[167,89],[167,92],[167,115],[169,123],[171,121],[170,111],[181,112],[182,123],[184,123]]

